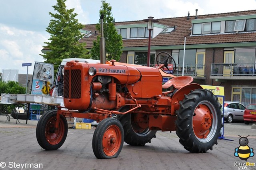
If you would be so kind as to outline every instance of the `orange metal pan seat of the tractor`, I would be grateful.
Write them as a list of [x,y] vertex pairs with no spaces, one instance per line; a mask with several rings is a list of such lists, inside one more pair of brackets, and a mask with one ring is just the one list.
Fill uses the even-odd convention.
[[166,83],[162,85],[162,88],[167,89],[173,85],[176,89],[180,89],[181,87],[188,85],[192,81],[193,81],[193,77],[191,76],[188,76],[188,75],[178,76],[168,80]]

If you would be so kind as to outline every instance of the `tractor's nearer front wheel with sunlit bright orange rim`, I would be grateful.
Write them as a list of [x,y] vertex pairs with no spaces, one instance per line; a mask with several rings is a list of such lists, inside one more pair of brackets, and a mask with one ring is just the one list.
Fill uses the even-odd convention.
[[124,129],[113,118],[102,120],[92,137],[92,150],[99,159],[116,158],[124,144]]

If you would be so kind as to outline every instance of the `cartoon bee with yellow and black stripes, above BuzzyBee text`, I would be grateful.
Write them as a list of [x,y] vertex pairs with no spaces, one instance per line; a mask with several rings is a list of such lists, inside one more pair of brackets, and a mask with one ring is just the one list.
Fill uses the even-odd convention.
[[252,152],[253,148],[250,148],[248,146],[248,143],[249,143],[249,140],[247,138],[248,136],[246,137],[240,136],[240,139],[239,139],[240,146],[238,148],[235,148],[236,152],[234,153],[234,156],[239,157],[241,160],[245,160],[245,161],[247,161],[249,157],[254,156],[254,152]]

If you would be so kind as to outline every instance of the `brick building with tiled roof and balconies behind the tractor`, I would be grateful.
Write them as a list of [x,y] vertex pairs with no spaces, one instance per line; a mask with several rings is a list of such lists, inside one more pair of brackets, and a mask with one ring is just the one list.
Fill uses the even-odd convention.
[[[196,83],[224,86],[226,101],[256,103],[256,10],[207,15],[197,15],[196,10],[195,16],[157,20],[151,34],[151,65],[161,51],[170,53],[176,62],[174,75],[183,72]],[[87,49],[100,35],[95,26],[85,25],[82,31],[80,42],[86,42]],[[115,27],[123,38],[120,62],[146,65],[147,23],[115,22]]]

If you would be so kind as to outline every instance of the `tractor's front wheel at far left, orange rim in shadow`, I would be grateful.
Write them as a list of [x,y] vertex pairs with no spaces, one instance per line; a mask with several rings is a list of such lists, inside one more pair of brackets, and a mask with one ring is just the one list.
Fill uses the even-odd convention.
[[36,126],[36,139],[45,150],[56,150],[65,142],[68,134],[68,123],[65,117],[60,115],[58,129],[55,128],[56,110],[45,112]]

